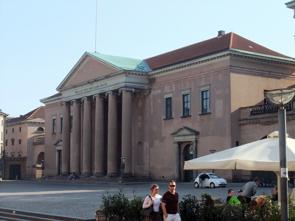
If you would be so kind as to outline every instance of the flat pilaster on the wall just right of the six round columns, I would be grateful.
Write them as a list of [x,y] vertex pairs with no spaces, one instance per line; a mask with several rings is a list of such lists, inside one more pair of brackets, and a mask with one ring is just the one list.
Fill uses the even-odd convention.
[[144,122],[143,122],[143,150],[142,150],[142,177],[150,178],[150,90],[142,91],[144,96],[143,110],[144,110]]

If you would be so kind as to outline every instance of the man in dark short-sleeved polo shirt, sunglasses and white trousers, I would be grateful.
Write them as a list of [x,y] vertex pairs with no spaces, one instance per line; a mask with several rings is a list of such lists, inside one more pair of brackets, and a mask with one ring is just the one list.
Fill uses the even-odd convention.
[[165,192],[162,198],[162,210],[164,221],[180,221],[180,211],[178,204],[178,193],[175,192],[176,182],[169,182],[169,191]]

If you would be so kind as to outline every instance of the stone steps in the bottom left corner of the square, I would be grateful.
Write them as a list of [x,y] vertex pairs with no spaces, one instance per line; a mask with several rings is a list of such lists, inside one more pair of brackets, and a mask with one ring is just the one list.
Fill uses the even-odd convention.
[[[15,213],[14,213],[15,212]],[[60,216],[49,213],[31,212],[0,207],[0,220],[6,221],[95,221],[81,217]]]

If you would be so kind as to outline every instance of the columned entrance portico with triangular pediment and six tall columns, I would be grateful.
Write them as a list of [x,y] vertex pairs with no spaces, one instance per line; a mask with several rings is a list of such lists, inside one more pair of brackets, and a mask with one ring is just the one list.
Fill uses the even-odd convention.
[[[86,72],[96,78],[85,79]],[[132,96],[148,90],[145,69],[126,71],[86,52],[57,90],[63,106],[61,175],[117,177],[124,156],[125,177],[132,177]]]

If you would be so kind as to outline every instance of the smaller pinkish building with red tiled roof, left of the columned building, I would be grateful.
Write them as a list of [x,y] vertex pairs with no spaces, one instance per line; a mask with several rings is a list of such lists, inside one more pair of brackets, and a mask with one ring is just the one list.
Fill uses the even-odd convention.
[[44,160],[45,106],[6,120],[4,179],[41,176]]

